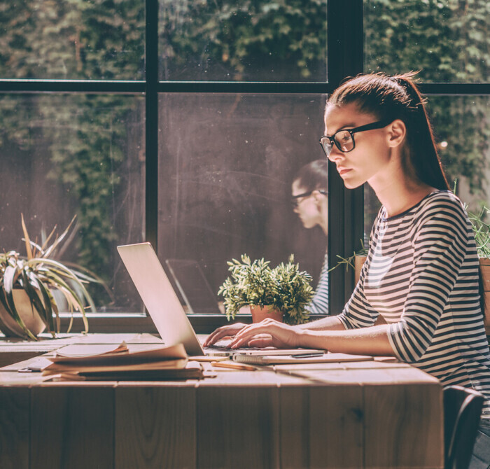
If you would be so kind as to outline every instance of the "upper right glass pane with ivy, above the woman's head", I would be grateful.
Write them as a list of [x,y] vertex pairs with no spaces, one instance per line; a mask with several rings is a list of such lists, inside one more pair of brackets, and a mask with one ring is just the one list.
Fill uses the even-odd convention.
[[488,0],[365,0],[365,71],[426,82],[488,82]]

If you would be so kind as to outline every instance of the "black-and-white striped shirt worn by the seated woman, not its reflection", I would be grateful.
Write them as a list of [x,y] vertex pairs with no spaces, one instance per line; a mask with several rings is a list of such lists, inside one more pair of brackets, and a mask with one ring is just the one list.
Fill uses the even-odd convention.
[[478,258],[468,216],[446,190],[386,218],[381,207],[370,250],[351,299],[339,316],[346,328],[381,314],[395,355],[442,381],[486,395],[490,353],[478,294]]

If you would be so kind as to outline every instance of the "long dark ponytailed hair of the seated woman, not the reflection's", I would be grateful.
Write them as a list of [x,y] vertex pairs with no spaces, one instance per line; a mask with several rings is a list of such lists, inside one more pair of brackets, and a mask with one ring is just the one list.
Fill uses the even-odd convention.
[[[449,189],[433,137],[426,107],[413,77],[416,73],[388,76],[369,73],[351,78],[328,98],[325,112],[332,107],[356,104],[362,113],[379,120],[400,119],[407,127],[405,169],[436,189]],[[409,163],[409,165],[407,165]]]

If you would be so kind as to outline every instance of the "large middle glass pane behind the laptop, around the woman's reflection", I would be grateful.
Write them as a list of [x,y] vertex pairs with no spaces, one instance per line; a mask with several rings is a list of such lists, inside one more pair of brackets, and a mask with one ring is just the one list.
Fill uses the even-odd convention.
[[158,253],[195,261],[215,304],[226,262],[244,253],[273,266],[293,253],[316,287],[327,239],[303,227],[290,196],[297,171],[325,161],[324,106],[312,94],[160,97]]

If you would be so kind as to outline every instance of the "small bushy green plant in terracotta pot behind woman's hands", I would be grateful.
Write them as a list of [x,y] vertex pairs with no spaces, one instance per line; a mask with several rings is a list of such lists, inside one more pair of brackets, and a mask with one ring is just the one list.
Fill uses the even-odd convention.
[[250,306],[253,322],[272,317],[288,324],[304,323],[308,312],[304,307],[311,302],[314,290],[311,275],[300,272],[294,256],[272,269],[263,258],[251,261],[241,255],[241,261],[228,262],[231,276],[218,290],[223,295],[228,321],[242,308]]

